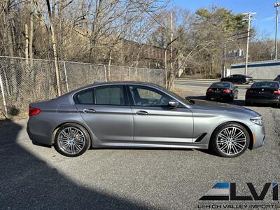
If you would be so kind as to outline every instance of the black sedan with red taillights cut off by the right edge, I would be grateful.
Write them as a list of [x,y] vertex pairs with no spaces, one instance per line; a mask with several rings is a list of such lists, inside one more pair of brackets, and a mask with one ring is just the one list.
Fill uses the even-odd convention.
[[262,81],[253,83],[246,91],[246,105],[252,103],[280,104],[280,83],[279,81]]

